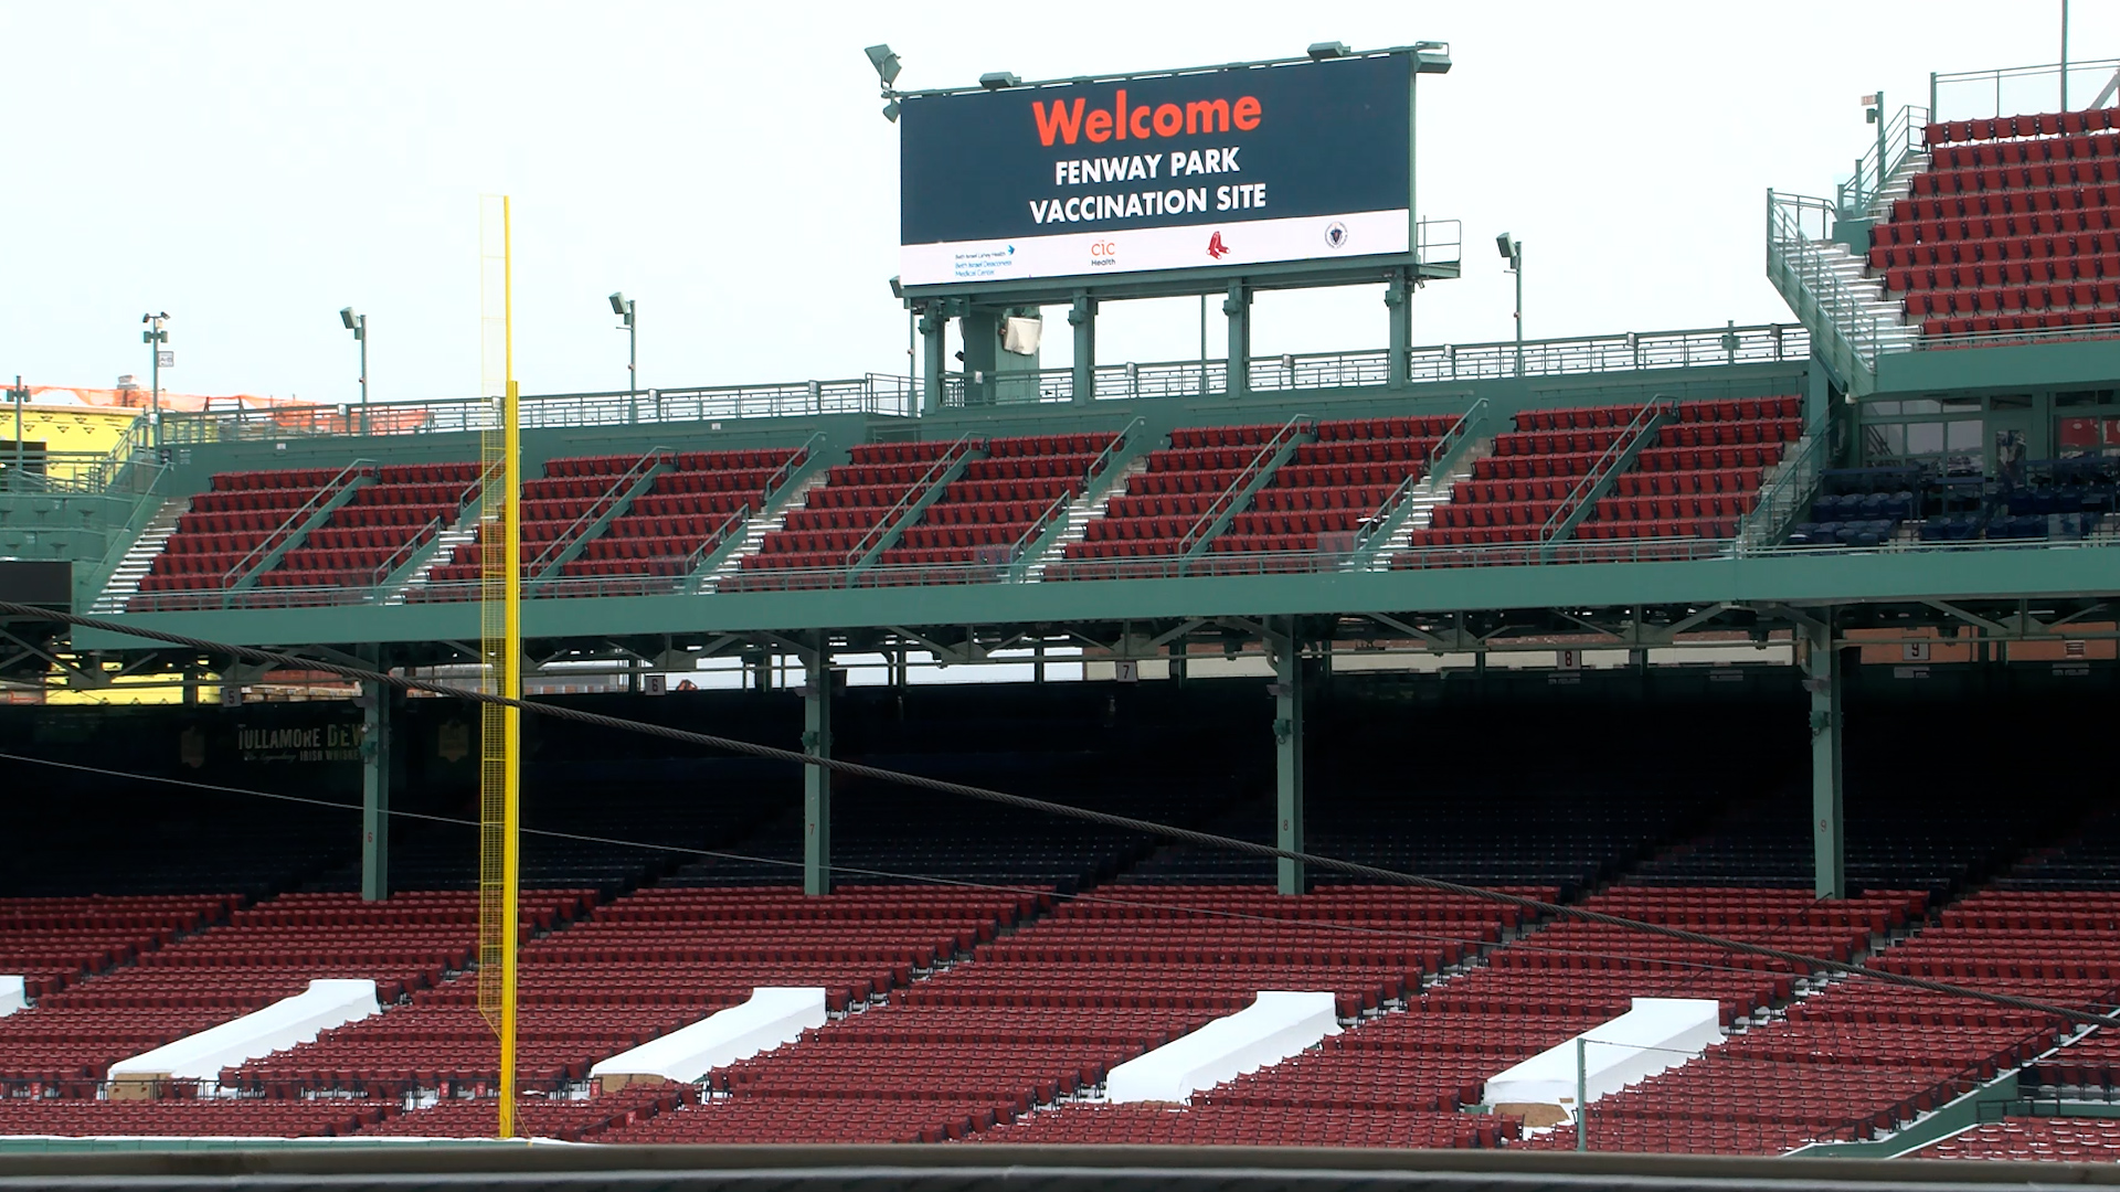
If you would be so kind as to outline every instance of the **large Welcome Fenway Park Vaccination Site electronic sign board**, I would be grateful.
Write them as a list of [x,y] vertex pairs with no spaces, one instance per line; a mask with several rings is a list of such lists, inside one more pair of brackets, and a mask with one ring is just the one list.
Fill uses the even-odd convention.
[[1412,55],[909,95],[899,280],[1412,252]]

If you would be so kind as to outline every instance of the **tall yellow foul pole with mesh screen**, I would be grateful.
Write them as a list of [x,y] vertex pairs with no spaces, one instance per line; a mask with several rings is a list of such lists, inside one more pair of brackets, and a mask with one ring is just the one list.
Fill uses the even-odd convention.
[[[479,439],[479,653],[483,687],[522,698],[522,422],[515,390],[515,278],[509,199],[479,210],[481,367],[494,416]],[[479,711],[479,1014],[500,1039],[496,1135],[515,1137],[515,946],[522,713]]]

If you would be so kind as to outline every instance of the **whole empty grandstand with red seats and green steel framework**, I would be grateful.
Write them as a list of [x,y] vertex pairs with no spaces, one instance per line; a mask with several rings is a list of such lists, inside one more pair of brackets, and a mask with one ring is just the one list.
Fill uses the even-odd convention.
[[[1448,68],[1331,45],[1255,68]],[[524,397],[505,513],[490,399],[4,473],[0,1158],[515,1097],[967,1164],[2114,1160],[2120,108],[1876,119],[1770,195],[1791,322],[1412,346],[1459,261],[1408,197],[1372,352],[1247,352],[1353,263],[1213,265],[1215,378],[1096,363],[1124,286],[1041,369],[1049,280],[909,276],[912,378]],[[509,554],[513,1069],[464,698]],[[170,700],[66,704],[121,683]]]

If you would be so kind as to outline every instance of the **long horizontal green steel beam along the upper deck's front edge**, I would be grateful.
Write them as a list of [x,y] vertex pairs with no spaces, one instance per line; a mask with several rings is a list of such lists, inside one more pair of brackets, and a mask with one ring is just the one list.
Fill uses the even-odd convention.
[[[1963,551],[1774,551],[1698,562],[1459,566],[1325,575],[1232,575],[1064,583],[956,583],[829,592],[526,600],[524,636],[803,632],[888,626],[1073,624],[1162,617],[1367,615],[1637,604],[1859,604],[2120,592],[2120,547]],[[140,626],[227,641],[475,641],[475,604],[354,604],[131,613]],[[76,649],[140,647],[78,630]]]

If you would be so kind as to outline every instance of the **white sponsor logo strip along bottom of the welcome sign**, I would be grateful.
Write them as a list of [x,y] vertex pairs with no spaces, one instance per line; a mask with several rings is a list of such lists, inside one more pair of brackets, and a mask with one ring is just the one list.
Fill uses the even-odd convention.
[[1297,218],[1249,218],[1126,231],[1068,231],[1020,240],[960,240],[899,248],[907,286],[1009,282],[1204,265],[1266,265],[1333,257],[1403,255],[1408,212],[1350,212]]

